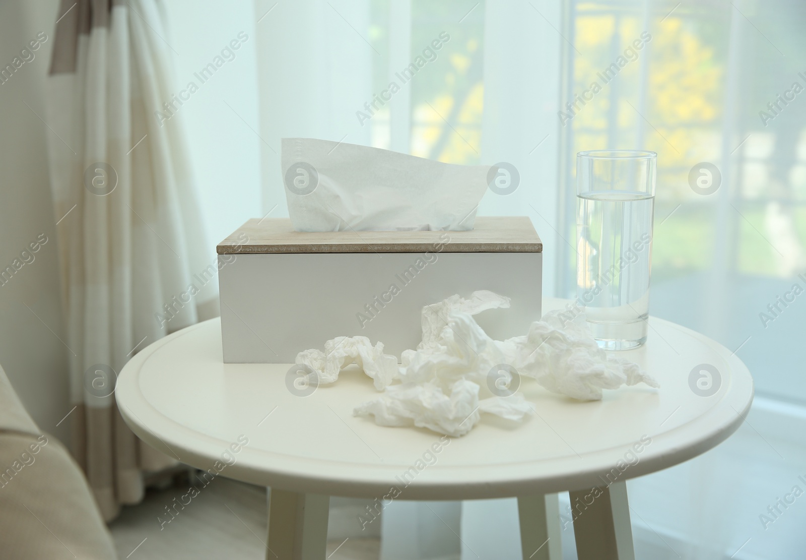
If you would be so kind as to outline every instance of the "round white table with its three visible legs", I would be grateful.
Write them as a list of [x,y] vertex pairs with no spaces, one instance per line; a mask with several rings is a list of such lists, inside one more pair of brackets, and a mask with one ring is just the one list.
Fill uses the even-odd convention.
[[353,416],[378,395],[355,366],[310,392],[289,388],[289,364],[225,364],[218,319],[137,353],[115,393],[149,445],[210,476],[272,488],[267,558],[324,558],[330,495],[368,498],[375,512],[393,499],[517,496],[524,558],[561,558],[555,493],[570,491],[579,558],[632,559],[625,480],[724,441],[750,408],[753,380],[725,347],[655,318],[646,345],[618,355],[660,389],[578,402],[524,378],[535,416],[482,415],[460,438]]

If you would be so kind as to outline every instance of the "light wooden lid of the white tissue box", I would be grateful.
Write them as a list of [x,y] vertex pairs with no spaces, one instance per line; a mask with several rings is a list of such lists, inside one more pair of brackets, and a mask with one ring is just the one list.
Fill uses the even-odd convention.
[[467,232],[295,232],[288,218],[253,218],[216,248],[219,255],[260,253],[542,253],[526,216],[477,216]]

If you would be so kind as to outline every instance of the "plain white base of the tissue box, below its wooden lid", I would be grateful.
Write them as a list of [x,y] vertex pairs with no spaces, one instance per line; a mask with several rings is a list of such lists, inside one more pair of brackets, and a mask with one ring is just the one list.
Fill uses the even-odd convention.
[[429,258],[423,253],[218,255],[224,361],[293,363],[301,350],[322,349],[336,336],[367,336],[373,345],[381,341],[384,353],[400,359],[422,339],[424,305],[454,294],[467,298],[476,290],[512,299],[509,309],[476,316],[496,340],[526,335],[540,319],[542,253],[430,253]]

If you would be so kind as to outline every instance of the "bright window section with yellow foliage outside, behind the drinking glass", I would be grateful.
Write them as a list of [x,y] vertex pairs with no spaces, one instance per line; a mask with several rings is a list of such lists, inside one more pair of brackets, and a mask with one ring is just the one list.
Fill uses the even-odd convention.
[[[794,286],[806,290],[806,102],[795,84],[806,87],[806,45],[793,22],[804,8],[567,4],[563,232],[575,236],[576,152],[657,152],[650,312],[737,350],[759,393],[803,402],[806,305]],[[708,179],[701,164],[713,166],[713,194],[695,190]],[[558,285],[571,295],[574,255],[559,249]]]

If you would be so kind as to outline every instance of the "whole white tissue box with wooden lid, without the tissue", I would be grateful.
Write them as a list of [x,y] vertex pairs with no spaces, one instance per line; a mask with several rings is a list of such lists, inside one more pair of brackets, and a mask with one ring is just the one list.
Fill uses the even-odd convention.
[[336,336],[367,336],[400,358],[422,340],[421,311],[491,290],[509,309],[476,316],[496,340],[541,317],[542,243],[526,216],[476,218],[467,232],[295,232],[250,219],[218,244],[227,363],[293,363]]

